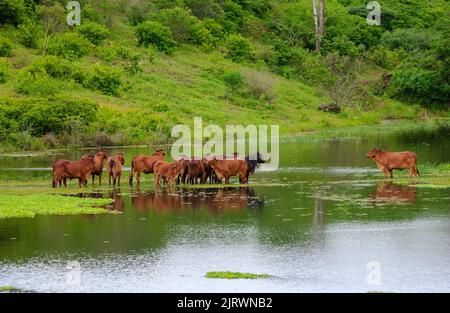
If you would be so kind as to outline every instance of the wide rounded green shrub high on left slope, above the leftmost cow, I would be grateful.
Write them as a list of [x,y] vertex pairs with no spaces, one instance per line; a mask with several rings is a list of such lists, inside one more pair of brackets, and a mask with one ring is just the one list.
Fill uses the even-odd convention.
[[82,57],[88,54],[90,42],[77,33],[56,35],[50,39],[48,52],[68,59]]

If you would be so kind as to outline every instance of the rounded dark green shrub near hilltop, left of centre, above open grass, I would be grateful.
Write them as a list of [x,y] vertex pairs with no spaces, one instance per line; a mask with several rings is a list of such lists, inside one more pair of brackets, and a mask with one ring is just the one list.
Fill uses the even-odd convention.
[[176,45],[170,28],[159,22],[147,21],[136,28],[136,36],[140,46],[155,45],[158,50],[170,52]]

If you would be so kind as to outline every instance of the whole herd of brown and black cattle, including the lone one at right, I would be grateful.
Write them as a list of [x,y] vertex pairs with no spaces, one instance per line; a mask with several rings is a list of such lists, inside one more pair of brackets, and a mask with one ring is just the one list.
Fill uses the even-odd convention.
[[[385,177],[393,177],[392,171],[395,169],[409,169],[410,176],[418,176],[417,156],[414,152],[387,152],[378,148],[373,148],[367,153],[368,158],[372,158]],[[136,175],[137,184],[140,184],[141,174],[155,175],[155,185],[161,182],[169,186],[175,184],[205,184],[205,183],[229,183],[233,176],[239,177],[243,184],[248,182],[249,176],[255,172],[258,164],[264,163],[264,159],[258,152],[256,157],[240,158],[234,154],[232,158],[217,159],[209,158],[181,158],[173,162],[164,161],[164,150],[155,151],[150,156],[139,155],[131,161],[130,185],[133,184],[133,177]],[[102,183],[103,167],[106,160],[106,173],[109,185],[120,185],[122,166],[125,164],[123,153],[113,156],[107,155],[104,149],[100,149],[95,155],[83,155],[80,160],[57,160],[53,163],[53,187],[64,184],[67,187],[67,179],[78,179],[79,186],[85,187],[89,176],[92,176],[92,186],[95,176],[99,178],[99,185]]]

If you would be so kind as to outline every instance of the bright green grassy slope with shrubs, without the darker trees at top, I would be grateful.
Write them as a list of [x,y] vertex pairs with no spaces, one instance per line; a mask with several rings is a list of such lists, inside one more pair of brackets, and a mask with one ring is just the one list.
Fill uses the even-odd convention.
[[[192,6],[216,1],[155,1],[142,12],[126,1],[80,2],[81,26],[58,20],[66,14],[58,1],[25,1],[24,10],[34,18],[1,23],[0,150],[165,142],[175,124],[192,125],[194,116],[203,117],[204,124],[279,124],[283,134],[417,118],[425,111],[449,116],[445,101],[424,106],[419,98],[381,90],[396,66],[376,64],[373,49],[316,54],[308,43],[298,43],[287,53],[295,61],[281,64],[282,49],[273,40],[283,35],[272,22],[296,3],[309,15],[310,1],[269,1],[264,14],[248,9],[248,2],[225,1],[243,12],[243,27],[229,30],[227,22],[239,22],[226,13],[205,18]],[[329,1],[343,16],[362,19],[350,15],[344,6],[350,3],[344,2]],[[433,9],[444,10],[445,4]],[[179,17],[180,8],[186,20]],[[139,44],[139,25],[161,10],[169,17],[158,25],[171,29],[173,47],[162,49],[154,37]],[[176,23],[170,10],[177,13]],[[48,34],[46,26],[53,28]],[[188,26],[193,31],[186,31]],[[214,37],[219,27],[221,34]],[[200,36],[197,29],[209,35]],[[248,54],[241,49],[247,44]],[[9,52],[1,54],[2,46]],[[319,111],[323,103],[338,103],[341,113]]]

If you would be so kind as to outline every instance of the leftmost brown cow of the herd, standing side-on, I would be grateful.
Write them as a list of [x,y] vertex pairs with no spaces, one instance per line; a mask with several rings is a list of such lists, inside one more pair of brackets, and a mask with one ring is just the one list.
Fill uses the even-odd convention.
[[95,160],[93,155],[86,155],[79,161],[59,160],[53,163],[53,180],[52,186],[56,188],[61,181],[64,181],[64,186],[67,187],[67,178],[77,178],[79,186],[87,185],[87,178],[94,170]]

